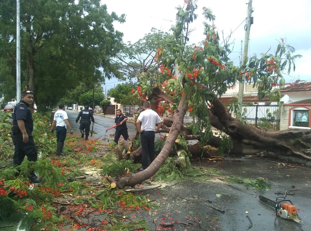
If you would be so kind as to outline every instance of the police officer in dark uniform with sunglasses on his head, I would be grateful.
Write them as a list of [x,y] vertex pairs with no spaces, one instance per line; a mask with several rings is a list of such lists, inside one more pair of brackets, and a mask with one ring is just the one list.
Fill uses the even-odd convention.
[[[38,159],[34,138],[31,134],[34,125],[32,112],[29,109],[34,100],[34,93],[27,91],[27,89],[25,90],[21,101],[16,104],[12,112],[13,127],[11,137],[14,144],[14,165],[21,165],[25,156],[27,156],[28,161],[37,161]],[[16,177],[18,175],[19,173],[16,174]],[[30,171],[30,177],[28,178],[32,183],[39,183],[41,180],[35,175],[33,170]]]

